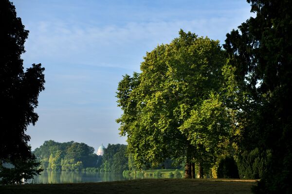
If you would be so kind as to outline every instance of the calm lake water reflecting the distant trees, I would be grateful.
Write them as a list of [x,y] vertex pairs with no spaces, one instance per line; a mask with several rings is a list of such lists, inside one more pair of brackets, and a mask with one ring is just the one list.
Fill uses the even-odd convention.
[[[143,177],[136,177],[136,179]],[[115,180],[130,180],[131,176],[114,173],[99,172],[74,172],[74,171],[47,171],[44,170],[40,175],[35,176],[28,183],[77,183],[77,182],[104,182]]]

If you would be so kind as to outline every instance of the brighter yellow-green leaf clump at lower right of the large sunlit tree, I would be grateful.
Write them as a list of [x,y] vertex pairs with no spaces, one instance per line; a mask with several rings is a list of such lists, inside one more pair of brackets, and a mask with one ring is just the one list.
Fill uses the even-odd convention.
[[[219,152],[220,143],[229,137],[231,118],[219,95],[211,94],[191,110],[190,117],[179,127],[198,152]],[[203,149],[202,149],[203,147]],[[204,154],[204,153],[201,153]]]

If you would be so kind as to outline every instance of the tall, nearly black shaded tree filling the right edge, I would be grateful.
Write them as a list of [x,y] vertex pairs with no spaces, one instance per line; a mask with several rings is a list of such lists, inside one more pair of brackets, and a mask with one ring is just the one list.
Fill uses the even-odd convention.
[[292,1],[247,1],[256,17],[228,33],[224,45],[254,103],[242,145],[268,153],[256,193],[291,194]]

